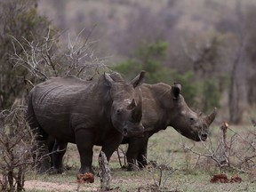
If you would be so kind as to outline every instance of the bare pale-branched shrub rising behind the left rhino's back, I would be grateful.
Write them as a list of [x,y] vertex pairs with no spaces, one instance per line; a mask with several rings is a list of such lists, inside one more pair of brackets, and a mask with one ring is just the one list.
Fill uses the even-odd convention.
[[70,75],[92,80],[108,68],[94,54],[95,42],[89,41],[92,32],[86,39],[81,37],[83,33],[84,29],[74,39],[69,33],[67,37],[64,32],[49,28],[47,36],[40,40],[12,36],[14,67],[27,68],[30,79],[41,82],[52,76]]

